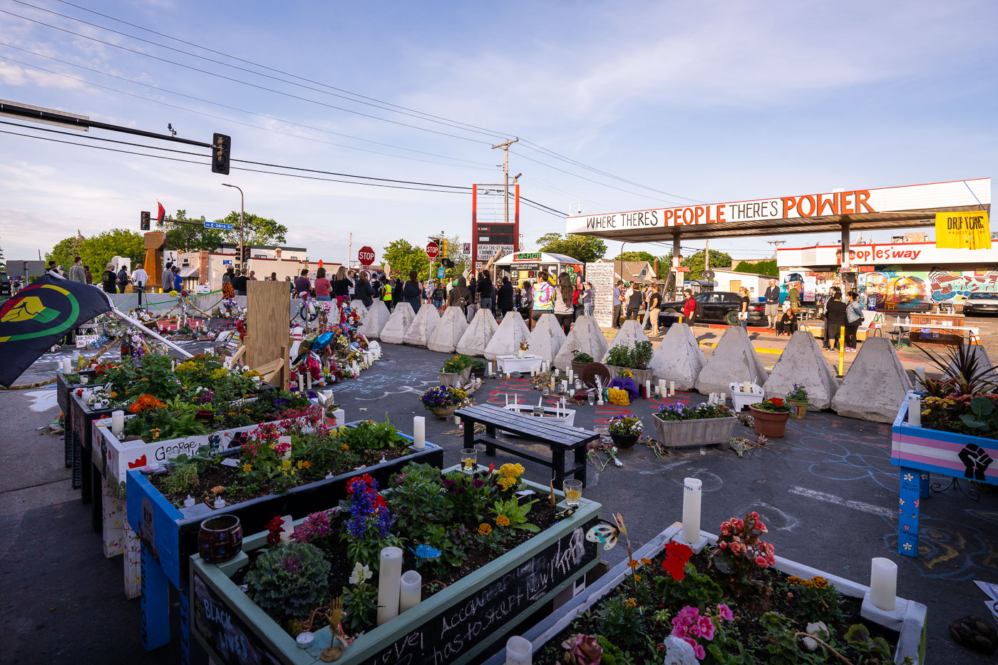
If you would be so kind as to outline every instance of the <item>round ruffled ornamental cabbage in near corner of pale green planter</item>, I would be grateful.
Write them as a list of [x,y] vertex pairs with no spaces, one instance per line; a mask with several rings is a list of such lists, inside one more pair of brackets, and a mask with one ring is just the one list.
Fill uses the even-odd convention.
[[247,573],[250,599],[278,622],[306,619],[321,604],[329,562],[314,545],[282,543],[264,551]]

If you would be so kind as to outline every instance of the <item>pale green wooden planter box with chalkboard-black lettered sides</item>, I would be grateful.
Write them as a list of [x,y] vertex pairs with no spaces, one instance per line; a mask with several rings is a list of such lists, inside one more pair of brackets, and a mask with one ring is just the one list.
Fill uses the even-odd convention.
[[[537,491],[542,500],[548,493],[547,486],[529,481],[524,485]],[[508,627],[529,617],[599,562],[597,544],[586,540],[585,533],[597,523],[601,508],[583,499],[571,517],[359,636],[336,662],[478,662],[481,654],[495,648],[494,642]],[[315,632],[312,646],[298,649],[294,638],[230,580],[247,564],[246,551],[262,547],[265,539],[265,532],[250,536],[244,540],[244,552],[223,564],[191,558],[192,633],[217,663],[317,665],[319,652],[329,645],[328,627]],[[237,644],[249,655],[227,649]]]

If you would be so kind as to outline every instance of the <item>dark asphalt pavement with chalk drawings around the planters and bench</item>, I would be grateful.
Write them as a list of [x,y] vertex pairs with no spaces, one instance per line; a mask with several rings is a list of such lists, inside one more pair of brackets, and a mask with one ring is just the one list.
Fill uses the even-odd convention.
[[[428,415],[427,439],[444,447],[445,463],[456,463],[459,427],[429,415],[418,401],[418,394],[436,383],[446,354],[382,347],[384,355],[374,367],[334,387],[347,419],[387,415],[411,432],[412,416]],[[36,363],[22,382],[51,376],[56,358]],[[486,381],[476,399],[501,405],[514,392],[532,403],[539,396],[526,380],[503,379]],[[704,399],[695,393],[677,398]],[[665,402],[574,406],[575,424],[591,427],[633,412],[653,432],[650,415],[659,403]],[[89,506],[70,488],[62,438],[45,433],[59,414],[54,387],[0,392],[0,412],[0,532],[7,535],[0,541],[2,660],[178,662],[176,640],[153,653],[143,650],[139,601],[125,599],[121,557],[104,558],[100,538],[90,528]],[[754,439],[741,425],[735,434]],[[659,458],[639,444],[620,453],[620,467],[601,470],[591,464],[584,493],[603,503],[605,516],[621,513],[638,547],[682,518],[683,478],[698,477],[704,487],[703,528],[717,531],[723,520],[757,510],[777,555],[861,583],[868,583],[870,558],[887,557],[898,564],[898,595],[928,606],[932,661],[994,662],[953,643],[947,625],[967,614],[987,615],[984,594],[973,580],[998,582],[998,494],[983,493],[973,501],[955,490],[933,493],[922,505],[919,558],[900,556],[898,474],[889,453],[888,425],[808,413],[802,421],[790,421],[786,436],[743,458],[699,447]],[[484,453],[480,459],[489,461]],[[497,463],[513,460],[501,452],[495,458]],[[526,477],[547,482],[548,469],[530,462],[524,466]],[[617,547],[604,556],[613,565],[626,550]],[[176,604],[174,621],[176,635]]]

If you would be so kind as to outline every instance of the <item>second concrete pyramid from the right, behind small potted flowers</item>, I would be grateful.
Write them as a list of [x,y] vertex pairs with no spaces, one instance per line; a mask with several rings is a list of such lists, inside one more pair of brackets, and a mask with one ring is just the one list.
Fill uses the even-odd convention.
[[782,397],[794,383],[807,388],[808,410],[831,406],[831,399],[838,389],[838,381],[831,365],[824,359],[814,335],[797,331],[790,337],[769,378],[762,385],[766,397]]

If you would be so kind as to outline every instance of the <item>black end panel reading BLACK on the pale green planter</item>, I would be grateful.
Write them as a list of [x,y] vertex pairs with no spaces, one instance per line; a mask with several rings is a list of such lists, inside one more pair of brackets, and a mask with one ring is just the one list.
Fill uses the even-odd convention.
[[227,665],[278,665],[280,661],[204,579],[194,576],[194,630]]

